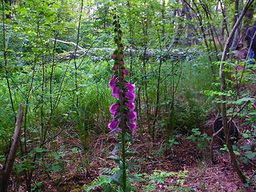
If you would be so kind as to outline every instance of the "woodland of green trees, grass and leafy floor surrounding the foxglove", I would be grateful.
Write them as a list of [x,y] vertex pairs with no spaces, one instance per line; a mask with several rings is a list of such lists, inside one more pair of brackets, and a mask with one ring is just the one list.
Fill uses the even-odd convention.
[[[24,103],[21,142],[8,189],[82,191],[92,185],[102,191],[92,181],[113,171],[114,162],[106,157],[117,143],[107,127],[114,102],[108,86],[115,48],[114,8],[120,16],[129,81],[136,85],[138,126],[129,147],[139,151],[130,158],[138,165],[134,173],[144,175],[140,176],[144,180],[134,182],[134,191],[253,189],[255,72],[246,70],[246,62],[233,55],[255,20],[255,2],[235,30],[225,61],[225,91],[221,92],[218,75],[226,39],[245,4],[241,0],[2,0],[2,165],[18,106]],[[225,146],[222,150],[214,146],[218,166],[210,162],[212,124],[222,115],[223,94],[226,114],[242,133],[233,148],[250,178],[245,185],[238,178],[225,180],[237,177]],[[228,173],[224,178],[216,174],[223,169]],[[214,180],[207,182],[200,178],[203,174]],[[98,178],[103,184],[106,180]]]

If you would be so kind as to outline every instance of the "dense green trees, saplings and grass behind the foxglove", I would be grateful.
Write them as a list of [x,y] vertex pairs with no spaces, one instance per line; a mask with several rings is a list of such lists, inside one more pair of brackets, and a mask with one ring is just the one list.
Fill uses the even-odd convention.
[[[176,138],[191,134],[190,139],[206,150],[204,123],[211,111],[220,113],[218,61],[242,10],[241,1],[238,7],[233,1],[214,0],[2,0],[1,4],[1,164],[18,106],[25,105],[14,163],[17,185],[24,175],[26,190],[34,190],[36,169],[44,175],[65,169],[62,154],[67,151],[58,148],[64,132],[67,140],[78,138],[80,144],[72,151],[83,157],[78,172],[89,177],[86,157],[92,153],[94,137],[109,134],[112,118],[109,108],[114,98],[108,85],[114,66],[113,8],[122,26],[127,81],[136,85],[135,134],[142,141],[165,139],[166,150],[177,144]],[[247,20],[241,31],[251,24]],[[229,97],[228,114],[246,119],[250,128],[243,136],[254,142],[255,98],[240,89],[243,82],[254,83],[253,73],[236,70],[241,63],[231,57],[226,65],[230,66],[224,93]],[[240,150],[244,162],[255,156],[247,145]]]

